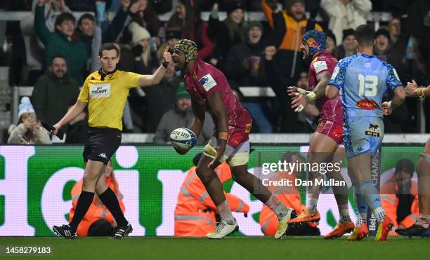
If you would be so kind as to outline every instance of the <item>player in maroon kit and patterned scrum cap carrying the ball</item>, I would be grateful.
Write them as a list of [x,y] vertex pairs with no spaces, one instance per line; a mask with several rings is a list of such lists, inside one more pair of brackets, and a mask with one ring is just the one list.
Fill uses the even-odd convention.
[[[223,238],[238,228],[223,186],[214,172],[224,161],[230,165],[233,179],[276,213],[279,226],[275,238],[280,238],[287,231],[292,209],[282,205],[263,186],[261,180],[248,172],[249,132],[252,124],[249,112],[237,100],[223,73],[198,57],[195,42],[183,39],[176,43],[172,59],[175,68],[185,72],[185,88],[192,98],[195,118],[190,130],[195,135],[200,135],[205,119],[204,111],[211,114],[215,123],[214,135],[204,146],[204,155],[196,170],[221,215],[216,231],[207,234],[207,238]],[[188,152],[175,149],[180,154]],[[255,192],[255,187],[260,188],[258,193]]]

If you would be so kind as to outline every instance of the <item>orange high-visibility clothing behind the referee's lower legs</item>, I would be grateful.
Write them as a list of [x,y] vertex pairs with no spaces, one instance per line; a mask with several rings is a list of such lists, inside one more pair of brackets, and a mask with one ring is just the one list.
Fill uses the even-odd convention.
[[[111,178],[106,179],[106,183],[108,186],[110,186],[110,189],[112,191],[115,191],[115,184],[112,182]],[[72,221],[74,210],[76,209],[77,200],[82,192],[82,180],[77,182],[77,184],[74,184],[72,189],[72,208],[70,209],[70,216],[69,221]],[[122,202],[122,194],[117,193],[117,198],[119,202],[119,207],[121,207],[122,212],[125,211],[124,203]],[[79,237],[86,237],[88,236],[88,230],[91,224],[93,224],[95,221],[98,221],[99,219],[106,219],[110,224],[113,223],[114,217],[110,213],[109,210],[107,210],[107,207],[103,205],[103,203],[100,202],[100,199],[96,198],[96,196],[93,199],[93,202],[91,203],[88,212],[86,212],[84,219],[82,219],[81,223],[79,223],[79,226],[77,228],[77,235]]]

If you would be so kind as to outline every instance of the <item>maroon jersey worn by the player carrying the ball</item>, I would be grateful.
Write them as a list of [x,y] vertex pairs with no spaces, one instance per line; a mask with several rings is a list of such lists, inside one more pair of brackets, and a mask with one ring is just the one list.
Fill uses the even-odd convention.
[[251,130],[252,118],[247,109],[237,100],[230,88],[226,77],[221,71],[207,64],[201,59],[195,60],[193,72],[184,76],[185,88],[195,102],[214,118],[215,128],[217,120],[211,111],[207,99],[216,92],[221,93],[224,106],[228,114],[228,145],[237,147],[247,141]]

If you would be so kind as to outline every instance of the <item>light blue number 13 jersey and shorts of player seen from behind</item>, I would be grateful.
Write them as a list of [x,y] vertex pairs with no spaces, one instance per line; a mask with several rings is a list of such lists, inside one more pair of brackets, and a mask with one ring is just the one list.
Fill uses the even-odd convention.
[[357,54],[337,62],[328,85],[341,94],[346,157],[374,155],[384,137],[382,97],[403,87],[396,69],[378,57]]

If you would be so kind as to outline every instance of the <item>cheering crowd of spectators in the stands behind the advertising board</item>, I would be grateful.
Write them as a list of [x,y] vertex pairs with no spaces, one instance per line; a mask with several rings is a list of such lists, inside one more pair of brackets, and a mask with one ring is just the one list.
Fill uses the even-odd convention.
[[[10,85],[34,85],[32,122],[38,118],[53,125],[65,114],[86,76],[100,69],[102,43],[117,43],[119,69],[152,74],[166,46],[172,51],[179,39],[191,39],[200,57],[223,71],[252,114],[252,132],[313,132],[318,109],[311,104],[296,113],[287,95],[289,85],[307,87],[301,36],[309,29],[325,31],[327,50],[340,60],[356,53],[354,28],[369,22],[375,11],[392,17],[376,28],[375,55],[392,64],[405,85],[412,78],[419,85],[430,83],[430,3],[425,0],[5,0],[0,10],[32,12],[7,22],[6,36],[0,35],[0,43],[6,38],[13,46],[9,53],[0,50],[0,65],[10,67]],[[209,12],[208,20],[201,11]],[[249,19],[250,11],[264,13],[266,20]],[[105,12],[115,12],[113,19]],[[159,15],[170,18],[162,22]],[[270,87],[276,97],[249,97],[240,86]],[[124,132],[156,133],[155,143],[168,142],[169,131],[187,126],[193,117],[183,90],[181,71],[173,66],[159,85],[133,89],[124,109]],[[408,99],[386,116],[386,132],[418,132],[418,104]],[[424,111],[430,111],[429,102]],[[83,113],[65,126],[72,135],[68,142],[82,142],[85,122]],[[22,114],[18,123],[20,137],[13,139],[30,142],[22,132],[35,123],[25,123]]]

